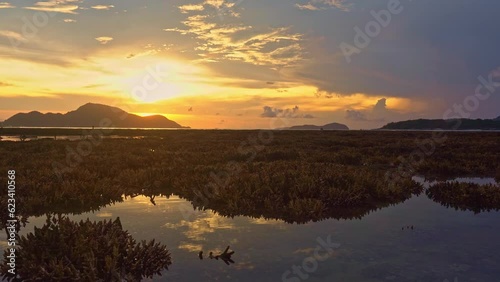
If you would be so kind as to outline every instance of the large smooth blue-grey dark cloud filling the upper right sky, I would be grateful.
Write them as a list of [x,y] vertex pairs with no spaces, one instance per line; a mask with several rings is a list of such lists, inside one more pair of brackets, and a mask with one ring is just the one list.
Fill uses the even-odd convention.
[[[318,87],[322,97],[356,93],[419,100],[438,97],[443,105],[453,106],[474,93],[478,76],[486,76],[500,65],[500,37],[492,36],[500,25],[500,2],[401,3],[401,14],[347,63],[339,45],[353,44],[353,28],[364,28],[373,20],[369,11],[379,11],[387,4],[384,0],[356,2],[350,12],[332,20],[341,22],[342,28],[324,33],[322,48],[332,55],[315,55],[293,76]],[[481,110],[494,115],[490,104],[484,103]]]

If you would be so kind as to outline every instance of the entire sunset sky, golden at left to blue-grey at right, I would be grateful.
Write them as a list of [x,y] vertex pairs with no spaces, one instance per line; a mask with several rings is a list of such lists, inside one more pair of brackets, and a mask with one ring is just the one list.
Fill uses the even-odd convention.
[[500,116],[500,2],[0,0],[0,120],[102,103],[271,129]]

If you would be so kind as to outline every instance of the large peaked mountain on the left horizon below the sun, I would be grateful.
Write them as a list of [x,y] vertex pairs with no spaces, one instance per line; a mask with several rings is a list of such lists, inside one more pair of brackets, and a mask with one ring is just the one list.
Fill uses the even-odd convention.
[[140,117],[116,107],[92,103],[66,114],[42,114],[37,111],[19,113],[5,120],[3,126],[182,128],[180,124],[161,115]]

